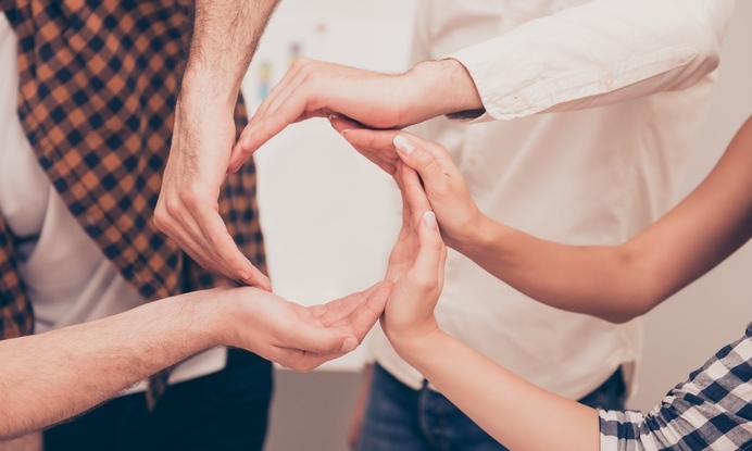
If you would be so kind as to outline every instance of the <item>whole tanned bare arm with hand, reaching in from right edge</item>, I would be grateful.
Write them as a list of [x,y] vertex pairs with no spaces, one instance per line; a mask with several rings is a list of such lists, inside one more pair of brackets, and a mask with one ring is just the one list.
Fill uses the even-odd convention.
[[[480,212],[447,151],[404,131],[335,127],[387,171],[414,167],[448,246],[531,298],[559,309],[626,322],[697,279],[752,235],[752,122],[748,120],[707,178],[631,240],[615,247],[565,246],[499,224]],[[349,129],[348,129],[349,128]],[[394,146],[394,138],[402,150]],[[412,151],[411,151],[412,149]],[[537,277],[546,274],[547,277]]]

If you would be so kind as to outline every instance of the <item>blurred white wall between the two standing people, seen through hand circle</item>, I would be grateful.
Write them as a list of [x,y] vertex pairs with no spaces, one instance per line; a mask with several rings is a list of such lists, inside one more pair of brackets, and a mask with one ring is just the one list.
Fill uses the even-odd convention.
[[[259,47],[243,91],[251,110],[296,57],[403,72],[413,0],[285,0]],[[381,280],[400,226],[390,176],[355,152],[325,118],[293,124],[255,153],[270,276],[305,305]],[[324,365],[362,366],[359,349]]]

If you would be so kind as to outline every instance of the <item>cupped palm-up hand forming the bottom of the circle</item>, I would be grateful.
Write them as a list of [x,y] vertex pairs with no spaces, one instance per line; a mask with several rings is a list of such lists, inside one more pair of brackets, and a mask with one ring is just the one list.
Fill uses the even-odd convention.
[[223,342],[298,372],[352,351],[384,312],[392,285],[379,283],[323,305],[304,308],[251,287],[229,289]]

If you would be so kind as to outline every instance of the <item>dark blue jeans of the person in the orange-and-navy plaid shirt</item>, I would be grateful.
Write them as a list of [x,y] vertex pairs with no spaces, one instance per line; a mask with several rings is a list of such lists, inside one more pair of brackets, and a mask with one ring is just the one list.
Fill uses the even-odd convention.
[[227,366],[172,385],[153,412],[134,393],[45,433],[46,451],[261,451],[273,390],[272,364],[230,349]]

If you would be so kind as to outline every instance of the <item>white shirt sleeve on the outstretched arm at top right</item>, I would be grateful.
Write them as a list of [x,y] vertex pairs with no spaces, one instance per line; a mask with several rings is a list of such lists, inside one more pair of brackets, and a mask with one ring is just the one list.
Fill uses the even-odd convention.
[[447,58],[473,77],[486,114],[511,120],[689,87],[719,62],[735,0],[596,0]]

